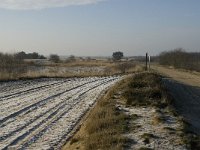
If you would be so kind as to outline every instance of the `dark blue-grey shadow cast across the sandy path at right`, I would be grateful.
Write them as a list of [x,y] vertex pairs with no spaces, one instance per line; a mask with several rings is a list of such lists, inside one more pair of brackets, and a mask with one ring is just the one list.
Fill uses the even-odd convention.
[[177,112],[191,124],[190,130],[200,135],[200,88],[170,78],[163,78],[163,82],[175,100]]

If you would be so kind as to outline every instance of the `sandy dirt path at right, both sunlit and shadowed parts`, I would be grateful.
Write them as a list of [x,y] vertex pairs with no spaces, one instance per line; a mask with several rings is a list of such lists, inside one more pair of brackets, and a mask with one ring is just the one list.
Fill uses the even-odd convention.
[[191,130],[200,135],[200,74],[160,66],[153,69],[170,77],[163,81],[175,98],[175,107],[192,125]]

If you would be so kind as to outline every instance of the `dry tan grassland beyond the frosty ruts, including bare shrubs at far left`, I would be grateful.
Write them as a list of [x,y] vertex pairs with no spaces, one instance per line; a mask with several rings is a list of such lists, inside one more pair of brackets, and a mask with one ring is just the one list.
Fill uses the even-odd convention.
[[[121,73],[133,73],[141,69],[134,62],[113,62],[107,59],[73,59],[73,61],[52,62],[48,60],[17,59],[15,55],[0,54],[0,80],[41,77],[88,77],[109,76]],[[123,64],[123,67],[119,67]],[[97,68],[103,68],[97,71]],[[75,68],[77,72],[70,72]],[[86,68],[86,70],[84,70]],[[91,68],[91,70],[90,70]],[[96,68],[96,69],[94,69]],[[80,71],[81,70],[81,71]]]

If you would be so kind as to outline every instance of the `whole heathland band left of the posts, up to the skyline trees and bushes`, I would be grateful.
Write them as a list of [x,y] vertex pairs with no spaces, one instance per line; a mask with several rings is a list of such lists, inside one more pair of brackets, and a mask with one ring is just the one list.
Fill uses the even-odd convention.
[[[1,72],[0,80],[13,80],[20,78],[38,77],[88,77],[106,76],[135,71],[135,62],[121,60],[115,56],[111,58],[75,57],[71,55],[61,58],[52,54],[49,58],[39,55],[36,52],[19,52],[16,54],[0,54]],[[138,67],[138,69],[140,69]]]

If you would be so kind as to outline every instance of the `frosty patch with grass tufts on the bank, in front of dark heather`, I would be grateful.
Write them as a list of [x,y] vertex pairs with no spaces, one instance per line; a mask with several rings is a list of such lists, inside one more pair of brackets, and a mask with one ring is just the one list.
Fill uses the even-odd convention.
[[116,107],[134,118],[128,123],[130,132],[124,135],[130,139],[125,149],[187,149],[185,144],[181,144],[181,136],[176,134],[176,131],[181,128],[179,119],[166,110],[158,111],[153,107],[126,107],[122,104]]

